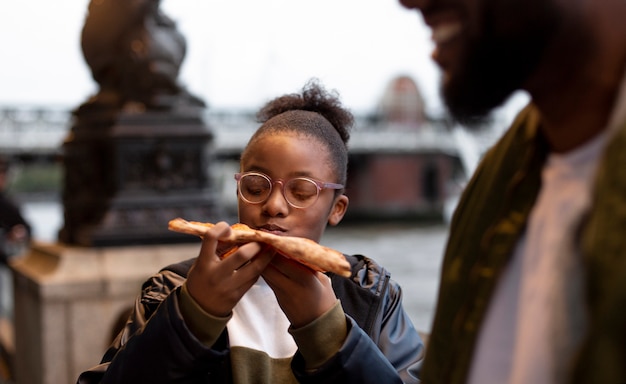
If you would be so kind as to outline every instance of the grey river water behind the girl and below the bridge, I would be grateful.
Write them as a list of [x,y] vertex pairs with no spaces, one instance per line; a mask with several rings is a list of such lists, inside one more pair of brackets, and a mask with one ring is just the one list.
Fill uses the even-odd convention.
[[[22,204],[36,240],[54,242],[62,226],[57,202]],[[448,235],[445,225],[363,223],[329,227],[321,243],[343,253],[362,254],[382,264],[402,286],[404,307],[419,331],[429,332],[439,283],[439,268]]]

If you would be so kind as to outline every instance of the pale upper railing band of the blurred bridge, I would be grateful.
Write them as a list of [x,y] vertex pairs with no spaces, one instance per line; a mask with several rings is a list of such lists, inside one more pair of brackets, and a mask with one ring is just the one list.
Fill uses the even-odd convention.
[[[373,116],[355,116],[350,139],[352,154],[445,153],[459,154],[458,139],[443,122],[420,126],[389,123]],[[205,121],[215,135],[217,156],[237,156],[258,128],[254,112],[207,110]],[[69,108],[0,107],[0,153],[16,157],[54,157],[72,124]]]

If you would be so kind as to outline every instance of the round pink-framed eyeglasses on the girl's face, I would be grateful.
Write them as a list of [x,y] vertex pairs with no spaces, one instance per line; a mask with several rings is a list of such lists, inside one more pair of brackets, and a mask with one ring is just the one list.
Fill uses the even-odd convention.
[[295,177],[287,181],[272,180],[259,172],[236,173],[239,196],[246,203],[261,204],[272,193],[274,184],[282,186],[283,196],[294,208],[307,208],[317,201],[322,189],[342,189],[342,184],[324,183],[308,177]]

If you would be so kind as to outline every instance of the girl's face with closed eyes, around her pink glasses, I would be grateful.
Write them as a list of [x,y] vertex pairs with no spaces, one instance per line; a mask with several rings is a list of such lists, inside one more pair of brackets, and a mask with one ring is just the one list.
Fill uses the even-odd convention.
[[[316,140],[295,133],[268,134],[248,147],[241,172],[260,172],[274,182],[309,177],[336,183],[329,161],[328,149]],[[251,228],[319,242],[326,224],[337,225],[343,218],[348,197],[335,197],[335,190],[322,189],[313,205],[295,208],[285,200],[282,184],[274,183],[267,200],[251,204],[239,197],[238,207],[239,221]]]

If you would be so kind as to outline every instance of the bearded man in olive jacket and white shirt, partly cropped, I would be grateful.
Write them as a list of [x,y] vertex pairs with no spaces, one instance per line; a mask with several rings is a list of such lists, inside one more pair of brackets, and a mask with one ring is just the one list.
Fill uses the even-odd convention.
[[459,121],[531,97],[453,217],[423,382],[626,383],[626,1],[400,2]]

